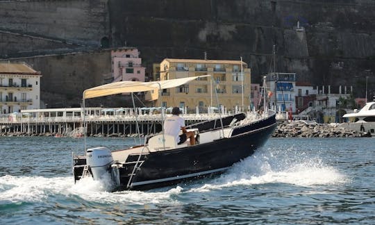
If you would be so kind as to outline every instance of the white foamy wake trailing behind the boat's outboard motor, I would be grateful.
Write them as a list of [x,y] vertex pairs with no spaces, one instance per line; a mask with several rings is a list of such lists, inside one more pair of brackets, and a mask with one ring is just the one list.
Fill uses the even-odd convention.
[[43,202],[57,195],[68,199],[83,199],[91,203],[173,203],[171,197],[182,192],[183,188],[176,187],[165,192],[108,192],[108,179],[94,181],[86,177],[74,184],[72,177],[44,178],[40,176],[2,176],[0,177],[0,202],[23,203]]

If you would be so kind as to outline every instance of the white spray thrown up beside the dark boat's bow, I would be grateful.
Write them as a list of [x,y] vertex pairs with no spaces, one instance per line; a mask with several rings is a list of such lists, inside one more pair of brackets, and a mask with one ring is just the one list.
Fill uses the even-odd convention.
[[215,181],[192,191],[209,191],[237,185],[286,183],[303,187],[338,185],[348,179],[337,169],[326,165],[315,154],[297,151],[293,147],[259,149],[253,156],[236,163]]

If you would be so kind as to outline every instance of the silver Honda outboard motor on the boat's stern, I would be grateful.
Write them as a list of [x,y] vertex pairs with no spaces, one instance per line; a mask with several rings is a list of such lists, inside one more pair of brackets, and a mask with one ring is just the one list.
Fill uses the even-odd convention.
[[97,181],[108,172],[108,168],[113,163],[112,153],[106,147],[96,147],[88,149],[86,153],[87,164],[91,168],[92,176]]

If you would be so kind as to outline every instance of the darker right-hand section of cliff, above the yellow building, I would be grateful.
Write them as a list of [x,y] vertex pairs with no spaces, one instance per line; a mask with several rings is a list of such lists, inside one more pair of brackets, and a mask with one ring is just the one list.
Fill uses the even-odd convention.
[[113,44],[138,46],[153,61],[242,56],[259,81],[276,44],[277,71],[314,85],[351,85],[375,69],[374,1],[137,0],[109,9]]

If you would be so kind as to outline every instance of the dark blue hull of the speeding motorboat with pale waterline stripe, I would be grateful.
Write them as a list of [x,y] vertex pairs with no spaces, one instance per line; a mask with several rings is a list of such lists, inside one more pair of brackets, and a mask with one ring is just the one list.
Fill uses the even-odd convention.
[[[206,144],[157,151],[144,156],[144,163],[135,173],[130,189],[145,190],[173,185],[181,181],[224,172],[228,167],[251,156],[265,144],[276,128],[274,116],[233,130],[231,138],[223,138]],[[131,168],[120,171],[126,175]],[[125,174],[124,174],[125,173]],[[127,176],[122,176],[126,188]]]

